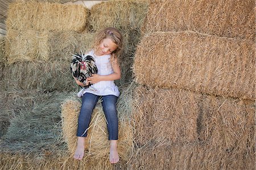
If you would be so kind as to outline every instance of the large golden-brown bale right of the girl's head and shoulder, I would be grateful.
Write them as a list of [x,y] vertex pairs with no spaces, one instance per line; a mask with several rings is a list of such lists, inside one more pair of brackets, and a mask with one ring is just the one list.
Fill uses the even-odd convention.
[[[255,99],[255,44],[196,32],[155,32],[137,47],[134,73],[151,88]],[[147,65],[147,67],[145,67]]]

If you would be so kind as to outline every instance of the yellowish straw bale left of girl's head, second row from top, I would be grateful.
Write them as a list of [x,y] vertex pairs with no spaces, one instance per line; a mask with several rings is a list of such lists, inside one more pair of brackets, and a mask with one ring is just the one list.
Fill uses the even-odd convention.
[[87,51],[94,34],[74,31],[15,31],[7,32],[7,64],[17,61],[71,61],[71,55]]

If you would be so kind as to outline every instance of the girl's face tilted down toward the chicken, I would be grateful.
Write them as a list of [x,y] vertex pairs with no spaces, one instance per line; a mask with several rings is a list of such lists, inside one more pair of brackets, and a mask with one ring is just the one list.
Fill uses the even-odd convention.
[[100,47],[97,49],[96,54],[99,56],[109,55],[117,49],[117,45],[113,43],[110,38],[105,38],[101,41]]

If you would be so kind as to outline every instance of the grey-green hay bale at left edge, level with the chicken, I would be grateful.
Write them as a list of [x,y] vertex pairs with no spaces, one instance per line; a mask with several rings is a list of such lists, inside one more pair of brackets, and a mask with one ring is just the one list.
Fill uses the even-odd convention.
[[72,92],[78,90],[70,72],[70,64],[64,61],[51,63],[15,63],[3,68],[0,91]]

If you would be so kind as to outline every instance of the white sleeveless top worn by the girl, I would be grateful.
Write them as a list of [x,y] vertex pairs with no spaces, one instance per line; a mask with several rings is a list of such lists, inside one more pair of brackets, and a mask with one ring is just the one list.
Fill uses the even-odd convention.
[[[94,50],[90,51],[86,55],[90,55],[96,61],[96,67],[98,68],[98,74],[106,76],[114,73],[113,68],[110,64],[110,55],[96,56]],[[82,97],[84,93],[92,93],[97,96],[114,95],[119,96],[118,87],[114,84],[114,81],[99,81],[89,86],[89,88],[82,88],[77,96]]]

